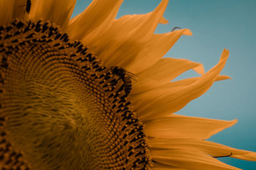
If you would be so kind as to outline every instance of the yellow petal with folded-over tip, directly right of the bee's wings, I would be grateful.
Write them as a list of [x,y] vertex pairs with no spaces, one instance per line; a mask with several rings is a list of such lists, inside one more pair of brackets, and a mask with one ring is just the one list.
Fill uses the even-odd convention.
[[163,86],[179,76],[179,74],[194,68],[196,68],[196,71],[204,74],[204,66],[200,63],[191,62],[186,59],[160,59],[154,66],[137,74],[140,81],[134,81],[132,84],[132,94]]

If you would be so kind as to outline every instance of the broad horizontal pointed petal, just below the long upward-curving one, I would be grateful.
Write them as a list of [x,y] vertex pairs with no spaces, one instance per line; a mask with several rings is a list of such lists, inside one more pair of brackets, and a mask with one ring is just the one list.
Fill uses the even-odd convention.
[[172,114],[170,117],[157,118],[143,123],[145,124],[144,131],[148,136],[168,139],[207,139],[236,122],[237,120],[214,120]]

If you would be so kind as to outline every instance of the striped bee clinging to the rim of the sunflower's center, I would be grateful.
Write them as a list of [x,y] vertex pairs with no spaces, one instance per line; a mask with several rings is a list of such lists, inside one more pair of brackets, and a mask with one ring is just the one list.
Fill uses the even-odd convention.
[[135,74],[126,71],[121,67],[111,67],[111,70],[113,74],[116,74],[120,79],[122,78],[122,80],[124,81],[125,94],[128,95],[132,90],[132,80],[138,81],[138,77]]

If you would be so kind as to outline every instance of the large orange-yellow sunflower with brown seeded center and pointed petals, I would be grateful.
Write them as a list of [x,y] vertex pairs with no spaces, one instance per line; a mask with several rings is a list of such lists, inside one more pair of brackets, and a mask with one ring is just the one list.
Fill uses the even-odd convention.
[[[2,169],[237,169],[256,153],[206,141],[234,125],[174,114],[204,94],[228,58],[162,58],[189,29],[154,34],[168,0],[115,19],[122,0],[0,2]],[[193,69],[201,76],[172,81]],[[136,80],[138,79],[138,80]]]

